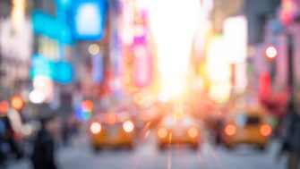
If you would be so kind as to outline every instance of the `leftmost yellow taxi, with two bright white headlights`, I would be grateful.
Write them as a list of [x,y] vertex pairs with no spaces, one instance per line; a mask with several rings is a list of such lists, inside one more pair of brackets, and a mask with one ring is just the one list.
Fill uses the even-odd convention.
[[95,150],[103,147],[133,148],[135,131],[131,114],[98,114],[90,121],[90,142]]

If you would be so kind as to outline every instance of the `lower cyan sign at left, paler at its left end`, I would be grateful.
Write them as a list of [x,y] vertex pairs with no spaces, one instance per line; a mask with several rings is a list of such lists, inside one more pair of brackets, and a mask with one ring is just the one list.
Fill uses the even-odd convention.
[[70,83],[73,80],[73,67],[65,61],[52,61],[42,55],[33,55],[30,68],[30,77],[42,75],[59,83]]

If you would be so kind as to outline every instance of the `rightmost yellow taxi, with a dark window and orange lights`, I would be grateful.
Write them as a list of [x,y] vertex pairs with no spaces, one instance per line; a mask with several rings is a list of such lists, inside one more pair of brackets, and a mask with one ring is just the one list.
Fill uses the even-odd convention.
[[223,141],[228,148],[238,144],[251,144],[263,150],[269,143],[271,133],[267,114],[262,108],[243,108],[227,118],[223,128]]

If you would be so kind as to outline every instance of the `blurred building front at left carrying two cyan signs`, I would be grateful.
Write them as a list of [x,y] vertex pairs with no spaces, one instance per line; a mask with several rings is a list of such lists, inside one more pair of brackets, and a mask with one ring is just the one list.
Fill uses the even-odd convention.
[[30,102],[64,114],[72,112],[70,96],[74,89],[73,36],[68,13],[71,13],[70,1],[47,0],[34,1],[30,13],[33,33]]

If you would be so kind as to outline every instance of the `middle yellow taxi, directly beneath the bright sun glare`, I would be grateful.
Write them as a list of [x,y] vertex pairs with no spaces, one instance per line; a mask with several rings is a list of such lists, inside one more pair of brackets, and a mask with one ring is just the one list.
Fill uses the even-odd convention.
[[159,123],[157,139],[159,149],[173,144],[187,144],[198,149],[201,139],[200,123],[189,114],[167,114]]

